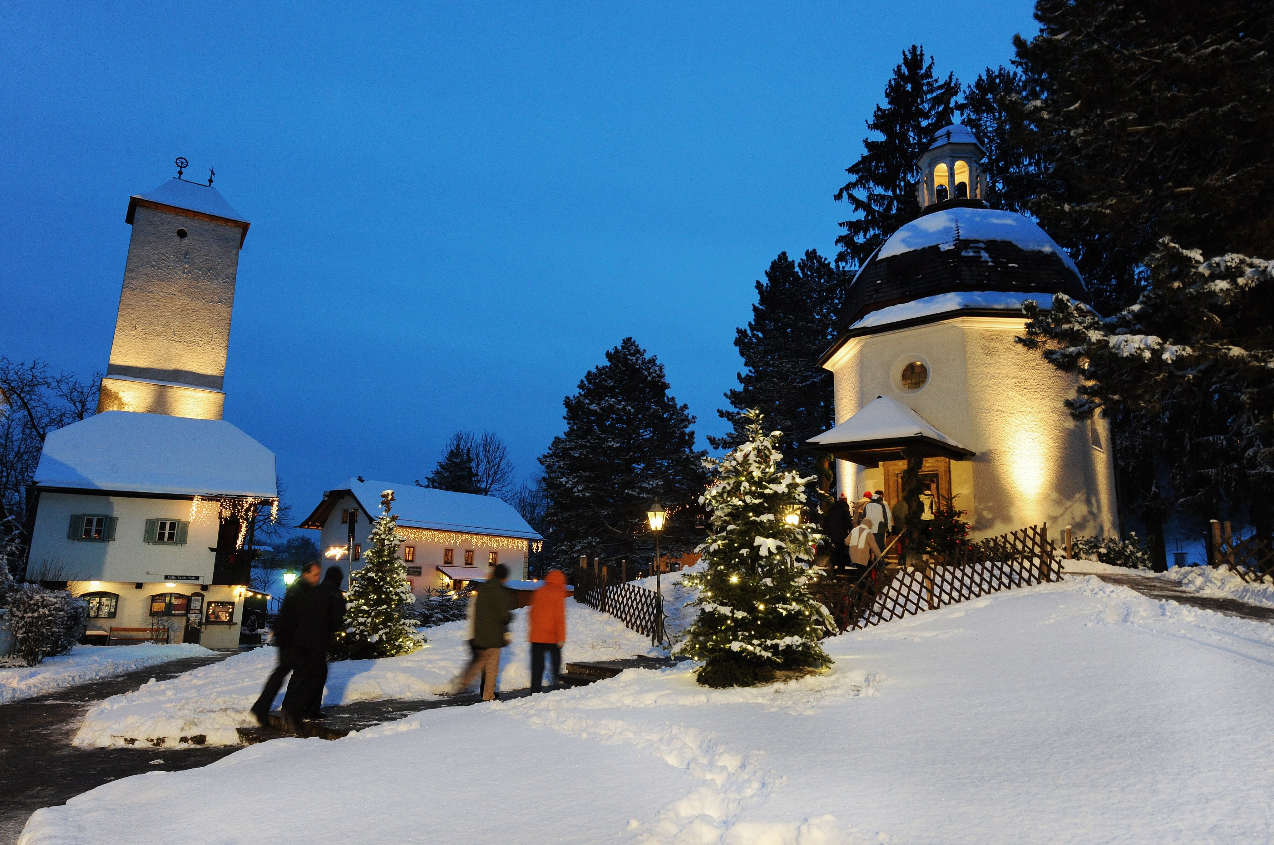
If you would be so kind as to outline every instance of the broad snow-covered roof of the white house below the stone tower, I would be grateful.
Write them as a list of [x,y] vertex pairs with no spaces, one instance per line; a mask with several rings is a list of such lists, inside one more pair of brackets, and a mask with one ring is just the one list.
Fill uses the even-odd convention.
[[104,411],[51,431],[34,481],[42,489],[279,495],[274,453],[225,420],[132,411]]

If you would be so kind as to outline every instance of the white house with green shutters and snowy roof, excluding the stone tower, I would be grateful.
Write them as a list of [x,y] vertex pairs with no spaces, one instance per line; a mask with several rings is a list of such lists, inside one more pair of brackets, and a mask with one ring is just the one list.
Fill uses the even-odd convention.
[[240,517],[276,500],[274,453],[224,420],[106,411],[51,431],[27,576],[68,582],[89,630],[167,627],[238,645],[251,568]]

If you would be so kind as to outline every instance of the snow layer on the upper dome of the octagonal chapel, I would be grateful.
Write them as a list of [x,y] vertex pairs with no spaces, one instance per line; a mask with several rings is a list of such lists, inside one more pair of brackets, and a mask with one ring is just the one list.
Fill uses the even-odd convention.
[[1079,269],[1066,251],[1034,220],[1000,209],[954,207],[916,218],[894,232],[875,257],[889,258],[925,247],[954,249],[957,243],[964,246],[963,252],[968,255],[970,249],[976,249],[976,244],[987,241],[1006,241],[1028,252],[1051,252],[1079,275]]

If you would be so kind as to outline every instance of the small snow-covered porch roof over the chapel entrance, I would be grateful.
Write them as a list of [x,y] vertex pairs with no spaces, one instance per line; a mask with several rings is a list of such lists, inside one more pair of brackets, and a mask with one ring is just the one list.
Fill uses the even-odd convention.
[[875,397],[845,422],[805,443],[809,448],[831,452],[841,461],[865,467],[878,466],[882,461],[901,461],[902,450],[908,447],[920,449],[925,457],[952,461],[975,454],[888,396]]

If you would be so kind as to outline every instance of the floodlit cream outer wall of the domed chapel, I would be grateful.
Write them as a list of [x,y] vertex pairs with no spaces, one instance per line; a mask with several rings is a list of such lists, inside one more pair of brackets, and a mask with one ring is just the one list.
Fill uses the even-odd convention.
[[[1063,401],[1077,379],[1014,342],[1019,317],[957,317],[847,341],[827,363],[833,373],[836,422],[877,396],[889,396],[977,454],[952,461],[952,492],[976,537],[1049,523],[1051,534],[1117,536],[1110,429],[1089,424]],[[929,381],[902,387],[902,368],[921,360]],[[840,492],[856,499],[880,489],[882,470],[837,461]]]

